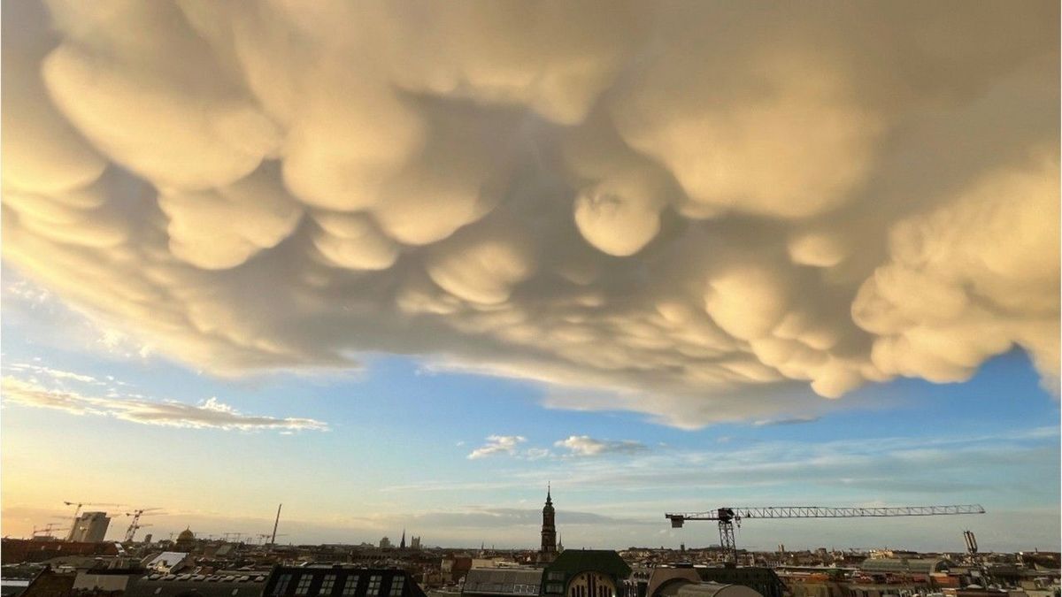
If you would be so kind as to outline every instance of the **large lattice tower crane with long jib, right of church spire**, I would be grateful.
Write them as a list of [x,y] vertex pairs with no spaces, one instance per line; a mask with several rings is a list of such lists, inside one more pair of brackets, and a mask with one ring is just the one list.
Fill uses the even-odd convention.
[[664,514],[671,528],[682,528],[686,521],[718,521],[719,544],[727,561],[737,563],[735,525],[742,518],[861,518],[879,516],[938,516],[943,514],[983,514],[979,505],[903,506],[898,508],[834,508],[828,506],[768,506],[766,508],[717,508],[706,512]]

